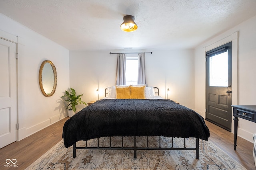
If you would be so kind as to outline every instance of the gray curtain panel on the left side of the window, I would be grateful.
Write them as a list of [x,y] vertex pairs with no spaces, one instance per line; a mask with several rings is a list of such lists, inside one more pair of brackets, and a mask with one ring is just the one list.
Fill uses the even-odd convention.
[[126,54],[117,55],[116,85],[126,85],[125,79]]

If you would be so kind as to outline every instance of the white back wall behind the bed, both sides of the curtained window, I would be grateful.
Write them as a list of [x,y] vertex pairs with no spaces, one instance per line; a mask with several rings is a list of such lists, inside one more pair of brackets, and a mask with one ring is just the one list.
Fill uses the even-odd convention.
[[[160,89],[160,96],[194,109],[194,50],[175,51],[70,51],[70,87],[82,100],[97,100],[104,97],[106,86],[115,85],[117,55],[115,52],[153,52],[146,54],[146,78],[148,86]],[[84,106],[78,106],[82,109]]]

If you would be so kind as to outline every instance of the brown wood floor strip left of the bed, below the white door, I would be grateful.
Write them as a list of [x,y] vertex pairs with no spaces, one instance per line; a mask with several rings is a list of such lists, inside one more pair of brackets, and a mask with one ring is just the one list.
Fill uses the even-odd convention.
[[[62,140],[62,128],[68,117],[0,149],[0,170],[24,170]],[[16,159],[18,168],[4,167],[6,159]]]

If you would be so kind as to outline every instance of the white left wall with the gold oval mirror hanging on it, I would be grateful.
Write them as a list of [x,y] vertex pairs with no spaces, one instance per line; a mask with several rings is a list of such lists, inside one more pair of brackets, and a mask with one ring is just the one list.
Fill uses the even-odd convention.
[[[67,115],[60,96],[69,87],[69,51],[24,25],[0,14],[0,30],[18,36],[18,140]],[[54,63],[57,88],[51,97],[43,96],[38,80],[44,60]]]

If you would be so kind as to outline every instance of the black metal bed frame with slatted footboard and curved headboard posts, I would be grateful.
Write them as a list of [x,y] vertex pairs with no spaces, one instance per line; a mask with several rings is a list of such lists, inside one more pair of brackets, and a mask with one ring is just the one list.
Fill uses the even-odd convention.
[[[157,92],[155,94],[158,94],[159,96],[159,89],[157,87],[154,87]],[[105,89],[105,97],[108,92],[106,92],[107,89]],[[173,138],[172,137],[172,147],[161,147],[161,136],[159,136],[159,147],[149,147],[148,146],[148,137],[147,137],[147,146],[146,147],[137,147],[137,139],[136,136],[134,136],[134,147],[124,147],[123,145],[123,137],[122,137],[122,146],[121,147],[112,147],[111,146],[111,137],[109,142],[109,147],[100,147],[99,146],[99,138],[98,140],[98,146],[97,147],[88,147],[87,141],[85,141],[85,147],[76,147],[76,143],[73,145],[73,158],[76,157],[76,149],[106,149],[106,150],[134,150],[134,158],[137,158],[137,150],[196,150],[196,159],[199,159],[199,139],[196,138],[196,147],[195,148],[187,148],[186,147],[186,139],[184,138],[184,147],[173,147]]]

